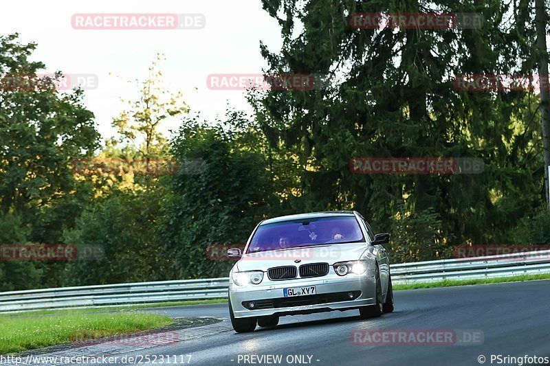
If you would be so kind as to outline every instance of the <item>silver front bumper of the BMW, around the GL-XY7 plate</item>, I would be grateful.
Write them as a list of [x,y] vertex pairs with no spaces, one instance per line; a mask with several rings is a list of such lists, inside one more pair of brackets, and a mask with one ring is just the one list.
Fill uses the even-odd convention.
[[[312,304],[302,306],[285,306],[277,308],[261,308],[250,310],[243,306],[243,302],[262,301],[273,299],[275,303],[281,303],[284,297],[283,288],[296,288],[316,286],[317,295],[360,292],[359,297],[353,300],[328,302],[324,304]],[[331,310],[347,310],[358,308],[360,306],[369,306],[375,304],[376,281],[375,271],[367,271],[364,275],[346,275],[340,277],[337,275],[327,275],[318,278],[298,278],[286,281],[270,282],[261,286],[236,286],[230,284],[229,299],[233,309],[234,317],[265,317],[268,315],[292,315],[309,314],[312,312],[322,312]],[[299,300],[300,297],[292,297]]]

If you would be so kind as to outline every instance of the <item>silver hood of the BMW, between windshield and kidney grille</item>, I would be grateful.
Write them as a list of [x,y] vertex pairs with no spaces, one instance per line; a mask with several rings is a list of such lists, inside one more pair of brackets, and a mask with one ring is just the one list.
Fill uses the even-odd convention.
[[[316,245],[312,247],[262,251],[244,254],[236,266],[239,271],[254,271],[278,266],[325,262],[334,264],[347,260],[358,260],[366,251],[366,243]],[[296,261],[300,262],[296,262]]]

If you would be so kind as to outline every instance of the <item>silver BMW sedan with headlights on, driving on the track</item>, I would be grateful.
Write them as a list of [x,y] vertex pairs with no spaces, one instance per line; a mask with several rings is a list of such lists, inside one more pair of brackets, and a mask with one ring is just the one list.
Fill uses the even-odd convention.
[[393,311],[386,249],[357,211],[281,216],[260,222],[230,271],[229,312],[236,332],[279,317],[358,309],[363,319]]

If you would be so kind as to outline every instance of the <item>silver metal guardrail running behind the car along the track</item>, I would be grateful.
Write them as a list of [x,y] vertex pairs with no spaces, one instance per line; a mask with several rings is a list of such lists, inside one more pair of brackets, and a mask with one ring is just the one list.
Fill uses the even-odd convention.
[[[391,273],[394,284],[550,273],[550,250],[393,264]],[[10,291],[0,293],[0,312],[221,299],[228,284],[221,277]]]

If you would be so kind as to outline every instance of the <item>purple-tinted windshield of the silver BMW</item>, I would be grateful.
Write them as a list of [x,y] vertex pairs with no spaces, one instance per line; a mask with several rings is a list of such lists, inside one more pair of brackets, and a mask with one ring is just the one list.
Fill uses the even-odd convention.
[[260,225],[247,253],[362,241],[363,233],[354,216],[305,218]]

